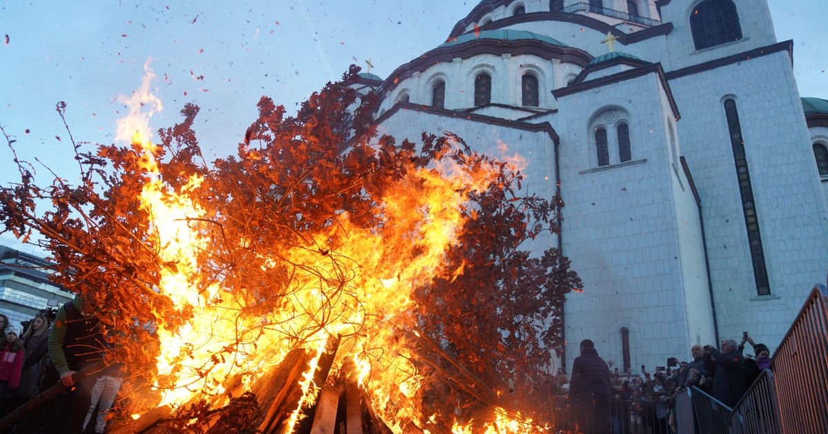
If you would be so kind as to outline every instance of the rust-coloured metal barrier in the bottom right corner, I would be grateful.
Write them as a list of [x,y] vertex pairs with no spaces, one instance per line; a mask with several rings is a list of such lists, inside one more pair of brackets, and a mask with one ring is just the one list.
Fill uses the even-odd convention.
[[828,432],[828,290],[816,285],[773,354],[782,432]]

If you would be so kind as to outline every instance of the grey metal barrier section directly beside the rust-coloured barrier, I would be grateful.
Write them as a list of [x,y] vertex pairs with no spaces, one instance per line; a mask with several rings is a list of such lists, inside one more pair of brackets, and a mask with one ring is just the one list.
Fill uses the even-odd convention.
[[763,370],[730,413],[731,434],[771,434],[779,426],[777,389],[771,370]]

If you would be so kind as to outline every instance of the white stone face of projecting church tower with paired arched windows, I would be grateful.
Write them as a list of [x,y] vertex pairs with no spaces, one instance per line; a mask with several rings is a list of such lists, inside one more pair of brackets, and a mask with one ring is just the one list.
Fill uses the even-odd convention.
[[[681,272],[676,267],[676,216],[667,170],[671,160],[663,119],[672,116],[655,74],[560,98],[564,254],[584,280],[584,293],[566,304],[567,365],[578,342],[590,338],[599,354],[621,365],[620,327],[630,330],[633,373],[686,353],[689,342]],[[634,97],[633,97],[634,96]],[[599,167],[592,128],[628,117],[632,160]],[[597,117],[596,117],[597,116]],[[609,128],[611,126],[611,128]]]

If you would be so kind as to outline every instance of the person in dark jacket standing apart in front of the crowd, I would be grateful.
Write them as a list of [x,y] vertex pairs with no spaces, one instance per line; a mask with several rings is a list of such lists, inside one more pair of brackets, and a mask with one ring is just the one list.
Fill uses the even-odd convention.
[[572,364],[570,402],[580,431],[609,432],[609,398],[612,396],[609,366],[598,356],[589,339],[580,342],[580,356]]

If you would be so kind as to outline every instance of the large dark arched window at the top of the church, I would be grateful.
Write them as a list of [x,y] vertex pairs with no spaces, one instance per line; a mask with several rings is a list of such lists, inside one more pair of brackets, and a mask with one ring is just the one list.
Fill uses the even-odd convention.
[[705,0],[690,13],[696,50],[742,39],[739,13],[731,0]]

